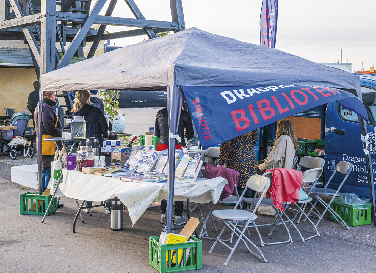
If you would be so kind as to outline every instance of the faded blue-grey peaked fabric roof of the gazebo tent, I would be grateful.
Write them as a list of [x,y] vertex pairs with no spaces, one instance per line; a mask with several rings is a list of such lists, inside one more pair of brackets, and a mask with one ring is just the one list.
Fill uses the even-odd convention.
[[190,28],[41,75],[41,90],[319,85],[360,90],[358,75]]

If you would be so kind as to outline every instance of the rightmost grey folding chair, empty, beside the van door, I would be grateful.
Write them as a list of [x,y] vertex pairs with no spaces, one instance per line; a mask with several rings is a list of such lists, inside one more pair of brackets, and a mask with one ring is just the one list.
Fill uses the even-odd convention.
[[[350,172],[352,171],[352,168],[353,168],[353,164],[352,163],[347,162],[347,161],[340,161],[337,164],[337,166],[335,166],[335,170],[334,170],[332,176],[329,178],[329,181],[327,181],[327,183],[325,184],[325,187],[324,188],[316,188],[315,187],[315,188],[313,188],[311,190],[311,194],[316,198],[316,201],[313,204],[313,206],[312,206],[311,210],[309,211],[309,213],[307,213],[307,217],[309,216],[309,214],[311,214],[311,212],[315,208],[317,202],[319,202],[325,208],[324,211],[323,211],[323,213],[321,213],[320,218],[318,219],[317,223],[315,224],[316,227],[317,227],[318,223],[320,223],[321,219],[323,219],[323,216],[326,213],[326,211],[329,210],[329,212],[333,215],[333,217],[337,220],[337,222],[339,222],[342,225],[344,225],[347,229],[350,229],[346,225],[346,223],[344,222],[344,220],[330,207],[330,205],[331,205],[331,203],[333,202],[333,200],[334,200],[334,198],[336,196],[340,196],[341,195],[340,189],[343,186],[343,184],[345,183],[347,176],[349,176]],[[327,186],[331,182],[331,180],[334,177],[334,175],[335,175],[336,172],[340,172],[340,173],[342,173],[342,174],[344,174],[346,176],[343,178],[343,180],[342,180],[341,184],[338,186],[337,190],[328,189]],[[321,198],[321,196],[323,196],[323,195],[332,196],[332,199],[328,203],[326,203]],[[306,219],[307,219],[307,217],[306,217]]]

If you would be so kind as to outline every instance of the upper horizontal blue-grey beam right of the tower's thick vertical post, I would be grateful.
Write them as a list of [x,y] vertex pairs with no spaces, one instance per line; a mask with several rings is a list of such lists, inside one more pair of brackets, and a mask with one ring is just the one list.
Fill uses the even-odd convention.
[[[83,23],[88,17],[87,14],[71,13],[71,12],[56,12],[56,20],[68,21],[74,23]],[[110,26],[124,26],[124,27],[156,27],[162,29],[177,30],[179,26],[175,22],[154,21],[134,18],[121,18],[99,15],[93,24],[110,25]]]

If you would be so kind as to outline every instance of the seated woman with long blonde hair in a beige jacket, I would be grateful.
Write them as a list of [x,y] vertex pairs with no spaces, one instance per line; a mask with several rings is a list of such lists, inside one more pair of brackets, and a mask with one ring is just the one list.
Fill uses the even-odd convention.
[[294,133],[293,123],[288,119],[281,119],[277,124],[273,148],[270,149],[264,162],[258,165],[258,169],[292,169],[297,148],[298,140]]

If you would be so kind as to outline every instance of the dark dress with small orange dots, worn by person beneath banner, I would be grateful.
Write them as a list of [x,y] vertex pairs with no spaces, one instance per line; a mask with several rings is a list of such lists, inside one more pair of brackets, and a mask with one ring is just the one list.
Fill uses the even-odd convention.
[[256,142],[254,130],[221,144],[218,164],[239,172],[238,187],[245,187],[250,176],[256,174]]

